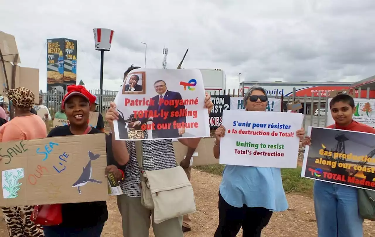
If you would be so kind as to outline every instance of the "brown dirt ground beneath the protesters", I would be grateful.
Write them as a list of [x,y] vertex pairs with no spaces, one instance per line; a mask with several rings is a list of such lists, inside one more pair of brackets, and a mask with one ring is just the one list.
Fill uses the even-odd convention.
[[[212,237],[218,223],[217,192],[221,177],[206,172],[193,170],[192,184],[196,197],[197,211],[192,215],[194,226],[186,232],[186,237]],[[263,236],[267,237],[311,237],[317,236],[317,226],[312,197],[299,194],[287,194],[289,209],[275,213],[269,225],[264,229]],[[117,209],[116,198],[108,201],[109,219],[104,226],[102,237],[120,237],[121,216]],[[375,223],[366,220],[364,236],[375,236]],[[7,237],[2,215],[0,217],[0,237]],[[242,236],[242,232],[237,237]],[[154,237],[150,230],[150,237]]]

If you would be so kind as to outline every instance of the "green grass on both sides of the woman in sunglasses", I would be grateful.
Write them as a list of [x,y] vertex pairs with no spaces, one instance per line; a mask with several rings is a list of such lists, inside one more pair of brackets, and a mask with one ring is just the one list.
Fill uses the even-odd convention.
[[[221,175],[224,169],[224,165],[204,165],[195,166],[196,169],[208,172],[214,175]],[[312,184],[313,181],[308,178],[301,177],[302,168],[300,166],[297,169],[281,169],[281,176],[285,192],[288,193],[305,193],[312,195]]]

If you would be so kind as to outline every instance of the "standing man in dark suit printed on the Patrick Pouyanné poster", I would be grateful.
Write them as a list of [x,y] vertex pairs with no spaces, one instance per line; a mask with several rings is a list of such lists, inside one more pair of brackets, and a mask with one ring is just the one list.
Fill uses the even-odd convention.
[[[169,138],[169,137],[182,137],[182,134],[185,133],[185,128],[177,128],[177,125],[173,126],[173,123],[174,121],[178,124],[180,124],[181,122],[186,122],[186,116],[181,116],[181,117],[171,117],[171,112],[180,112],[181,109],[185,109],[185,106],[181,103],[178,103],[178,106],[174,106],[174,105],[165,105],[164,103],[163,104],[160,104],[159,105],[159,101],[160,100],[174,100],[175,101],[181,101],[182,100],[182,97],[181,97],[181,94],[179,92],[174,92],[174,91],[168,91],[167,89],[167,86],[166,86],[166,83],[165,81],[163,80],[157,80],[155,83],[154,83],[154,89],[157,93],[156,96],[154,96],[153,98],[151,98],[152,100],[154,100],[154,103],[153,105],[149,105],[147,110],[148,111],[153,111],[153,112],[157,112],[158,114],[160,114],[160,112],[163,110],[163,112],[168,112],[168,115],[164,118],[163,116],[155,116],[153,118],[153,123],[154,123],[154,130],[152,131],[152,137],[153,138]],[[147,122],[147,119],[146,117],[144,118],[141,118],[139,119],[138,121],[136,122],[132,122],[129,124],[129,126],[136,126],[136,125],[140,125],[140,124],[143,124],[145,122]],[[169,128],[168,129],[160,129],[160,125],[159,125],[159,128],[158,128],[158,124],[170,124]]]

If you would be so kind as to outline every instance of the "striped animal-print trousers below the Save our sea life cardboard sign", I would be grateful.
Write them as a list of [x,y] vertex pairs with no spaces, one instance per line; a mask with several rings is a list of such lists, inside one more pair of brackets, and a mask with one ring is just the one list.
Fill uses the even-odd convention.
[[30,220],[32,206],[1,207],[10,237],[44,237],[43,229]]

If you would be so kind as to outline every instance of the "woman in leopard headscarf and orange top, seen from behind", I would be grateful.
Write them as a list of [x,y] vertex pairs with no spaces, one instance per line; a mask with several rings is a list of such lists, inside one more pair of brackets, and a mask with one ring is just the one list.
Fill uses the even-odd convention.
[[[34,94],[27,88],[8,90],[12,101],[15,118],[0,127],[0,142],[32,140],[47,136],[43,120],[30,112],[34,104]],[[3,156],[3,158],[5,155]],[[10,159],[10,158],[9,158]],[[0,162],[10,162],[7,158]],[[42,237],[43,230],[31,222],[32,206],[2,207],[9,236]]]

